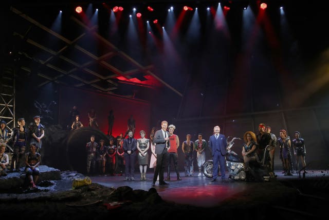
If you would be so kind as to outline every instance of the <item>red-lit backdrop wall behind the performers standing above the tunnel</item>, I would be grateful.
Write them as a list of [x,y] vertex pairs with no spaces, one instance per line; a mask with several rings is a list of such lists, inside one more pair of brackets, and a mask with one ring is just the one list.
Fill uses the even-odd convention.
[[[71,126],[69,112],[73,106],[77,106],[80,119],[84,127],[88,126],[88,111],[94,108],[97,112],[99,129],[107,134],[107,116],[112,109],[115,119],[112,135],[116,137],[127,130],[127,121],[133,115],[136,121],[135,138],[139,138],[139,131],[144,130],[147,137],[150,134],[150,103],[141,102],[133,98],[124,98],[114,95],[100,94],[91,91],[79,90],[62,86],[60,88],[59,123],[63,126]],[[89,137],[86,137],[86,142]],[[96,140],[97,141],[97,140]]]

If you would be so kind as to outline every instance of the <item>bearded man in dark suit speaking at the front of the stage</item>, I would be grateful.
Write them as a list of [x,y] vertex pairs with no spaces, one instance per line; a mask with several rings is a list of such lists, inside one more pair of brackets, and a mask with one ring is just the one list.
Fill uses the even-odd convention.
[[155,185],[156,179],[159,175],[159,185],[169,185],[163,179],[163,172],[165,171],[165,166],[167,165],[168,158],[168,149],[170,148],[169,142],[169,132],[167,131],[168,122],[161,122],[161,129],[156,131],[154,134],[154,143],[155,145],[155,153],[157,155],[156,159],[156,168],[153,176],[152,186]]

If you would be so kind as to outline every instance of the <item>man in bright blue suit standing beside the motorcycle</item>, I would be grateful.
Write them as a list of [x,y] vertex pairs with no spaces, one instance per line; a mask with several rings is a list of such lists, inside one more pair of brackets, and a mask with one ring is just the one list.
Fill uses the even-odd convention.
[[220,134],[221,128],[220,126],[214,127],[214,134],[209,137],[209,148],[211,149],[211,155],[214,163],[214,167],[212,170],[212,181],[216,181],[218,176],[218,162],[221,165],[221,177],[222,181],[226,181],[225,179],[225,155],[226,155],[226,137],[224,134]]

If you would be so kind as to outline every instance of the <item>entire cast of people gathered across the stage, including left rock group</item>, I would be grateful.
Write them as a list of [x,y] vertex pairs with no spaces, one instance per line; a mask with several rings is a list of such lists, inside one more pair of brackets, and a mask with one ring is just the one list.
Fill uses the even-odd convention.
[[[76,118],[78,121],[79,118]],[[6,150],[12,147],[10,171],[19,172],[21,168],[25,166],[24,171],[28,174],[27,176],[30,179],[31,187],[35,187],[35,183],[38,181],[38,166],[41,162],[40,150],[42,148],[42,138],[45,135],[45,127],[40,123],[40,116],[34,116],[33,119],[34,122],[30,123],[29,126],[25,126],[25,119],[19,118],[17,121],[18,125],[11,129],[10,137],[8,135],[7,123],[5,121],[0,121],[0,175],[7,175],[9,158]],[[130,119],[132,119],[132,116]],[[94,121],[94,123],[96,122]],[[162,125],[162,123],[164,124]],[[141,181],[147,179],[145,175],[147,173],[147,168],[154,168],[154,172],[158,173],[157,175],[159,176],[155,176],[154,179],[163,175],[163,172],[166,170],[166,181],[170,181],[171,165],[173,164],[177,181],[181,181],[178,170],[178,148],[180,146],[180,141],[178,135],[174,134],[176,127],[174,125],[168,126],[168,122],[166,121],[162,123],[160,129],[162,136],[159,136],[158,133],[156,138],[155,134],[160,130],[156,131],[155,128],[152,128],[150,138],[147,138],[147,133],[141,130],[139,132],[140,138],[136,139],[134,138],[134,131],[131,129],[125,134],[121,133],[116,138],[110,136],[111,138],[108,143],[106,143],[107,141],[104,139],[96,141],[95,136],[90,136],[90,142],[86,144],[86,173],[123,175],[125,180],[134,181],[135,166],[138,164]],[[72,124],[72,126],[73,125],[74,124]],[[109,133],[112,133],[112,128]],[[127,137],[125,137],[126,135]],[[280,148],[279,156],[285,175],[292,175],[292,173],[302,169],[306,172],[306,149],[304,139],[301,137],[300,132],[294,132],[295,138],[293,140],[290,139],[287,132],[283,129],[280,130],[279,135],[280,137],[277,138],[275,134],[271,133],[271,128],[265,126],[265,124],[259,125],[259,132],[257,134],[252,131],[247,131],[244,134],[245,143],[242,147],[242,156],[247,172],[249,169],[249,162],[262,157],[264,149],[267,148],[270,156],[271,174],[273,177],[276,176],[274,173],[274,157],[277,145],[279,145]],[[220,136],[221,143],[216,142],[218,136]],[[193,175],[194,159],[196,159],[197,162],[197,176],[204,176],[202,173],[202,166],[206,159],[205,150],[209,148],[214,157],[216,155],[216,150],[214,149],[218,148],[219,152],[225,151],[223,149],[226,149],[226,143],[226,137],[224,134],[220,134],[219,126],[214,127],[213,135],[210,136],[208,142],[203,138],[201,133],[198,134],[198,139],[194,142],[191,140],[191,135],[187,134],[186,140],[182,142],[181,145],[181,152],[184,154],[185,158],[185,176]],[[223,146],[221,145],[225,148],[222,148]],[[29,151],[26,151],[26,146],[29,146]],[[160,147],[161,150],[159,150]],[[162,154],[164,151],[166,151],[166,154]],[[222,153],[224,159],[225,154],[226,152]],[[159,157],[161,158],[161,163],[158,161]],[[217,163],[221,164],[220,173],[225,172],[225,166],[222,166],[223,158],[220,156],[219,161],[217,161]],[[293,158],[295,158],[295,163],[293,163]],[[158,167],[159,165],[161,167]],[[156,169],[157,167],[158,170]],[[216,166],[214,165],[214,167]],[[222,174],[222,178],[223,176],[225,176],[225,174]],[[164,179],[159,180],[160,185],[167,184],[163,180]]]

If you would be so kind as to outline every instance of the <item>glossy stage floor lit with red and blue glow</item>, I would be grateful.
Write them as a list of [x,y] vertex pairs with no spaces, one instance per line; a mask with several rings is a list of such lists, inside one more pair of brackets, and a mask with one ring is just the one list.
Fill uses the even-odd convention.
[[[281,173],[282,170],[277,170],[278,175],[275,179],[270,179],[269,182],[295,182],[305,179],[322,179],[328,177],[329,173],[325,170],[308,170],[305,178],[301,174],[295,173],[293,176],[285,176]],[[266,187],[267,182],[245,182],[234,181],[222,182],[221,177],[217,178],[216,182],[211,182],[210,178],[205,176],[198,177],[198,173],[193,176],[184,176],[180,173],[182,181],[177,181],[175,172],[171,172],[171,181],[166,181],[169,185],[159,186],[158,181],[154,188],[163,200],[174,202],[177,204],[186,204],[200,207],[214,207],[225,199],[228,199],[236,194],[254,190],[255,187]],[[165,173],[165,178],[167,173]],[[228,174],[226,173],[226,176]],[[124,176],[90,176],[93,183],[98,183],[106,187],[118,188],[120,186],[129,186],[134,190],[141,189],[149,191],[152,188],[153,173],[147,173],[147,181],[140,181],[140,174],[135,174],[135,181],[124,181]],[[256,186],[257,185],[257,186]]]

